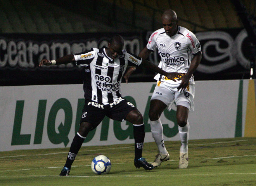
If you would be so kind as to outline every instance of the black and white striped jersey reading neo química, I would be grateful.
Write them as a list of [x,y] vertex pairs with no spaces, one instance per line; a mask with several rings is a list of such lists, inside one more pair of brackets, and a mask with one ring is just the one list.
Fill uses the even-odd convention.
[[121,97],[121,78],[127,66],[138,66],[142,59],[122,50],[121,55],[111,59],[106,47],[91,48],[89,51],[74,54],[76,65],[85,67],[83,83],[84,96],[99,104],[107,105]]

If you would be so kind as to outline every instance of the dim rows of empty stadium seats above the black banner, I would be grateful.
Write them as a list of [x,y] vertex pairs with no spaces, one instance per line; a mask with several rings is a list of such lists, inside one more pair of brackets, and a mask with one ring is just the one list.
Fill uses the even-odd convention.
[[[250,3],[244,1],[253,12]],[[1,33],[152,31],[161,28],[167,8],[193,32],[242,27],[231,0],[0,0],[0,28]]]

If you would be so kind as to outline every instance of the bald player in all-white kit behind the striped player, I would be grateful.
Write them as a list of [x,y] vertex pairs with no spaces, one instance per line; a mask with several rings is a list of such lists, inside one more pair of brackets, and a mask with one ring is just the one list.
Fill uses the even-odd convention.
[[[149,119],[152,136],[158,146],[159,153],[152,163],[155,167],[170,158],[163,139],[163,126],[160,116],[167,107],[171,110],[173,102],[176,104],[176,118],[180,133],[180,160],[179,168],[187,168],[188,139],[189,139],[189,111],[194,111],[194,77],[193,72],[199,65],[202,52],[195,35],[188,29],[178,26],[178,18],[173,10],[166,10],[162,15],[163,28],[151,34],[147,46],[139,53],[139,57],[147,59],[149,54],[158,49],[161,57],[159,67],[167,72],[180,73],[181,79],[171,81],[168,77],[157,74],[157,86],[150,101]],[[135,70],[130,68],[125,74],[128,77]]]

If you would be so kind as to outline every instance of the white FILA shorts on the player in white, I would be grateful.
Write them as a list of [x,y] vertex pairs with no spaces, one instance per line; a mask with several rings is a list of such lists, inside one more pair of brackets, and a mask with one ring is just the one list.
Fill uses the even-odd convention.
[[[182,105],[189,108],[190,111],[194,111],[194,96],[195,96],[195,85],[189,84],[184,92],[180,93],[177,90],[179,84],[169,84],[166,82],[157,81],[154,93],[151,100],[161,100],[167,105],[167,109],[170,111],[173,103],[176,105]],[[189,104],[186,104],[188,102]],[[185,104],[184,104],[185,103]]]

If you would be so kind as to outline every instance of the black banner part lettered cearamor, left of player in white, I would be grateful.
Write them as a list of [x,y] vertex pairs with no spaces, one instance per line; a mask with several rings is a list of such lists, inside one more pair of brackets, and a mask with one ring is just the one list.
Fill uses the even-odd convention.
[[[75,64],[38,67],[42,59],[57,59],[92,47],[107,46],[114,33],[2,34],[0,36],[0,85],[83,83],[83,68]],[[124,48],[139,53],[138,34],[125,33]],[[136,73],[139,73],[136,72]]]

